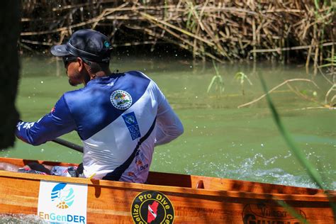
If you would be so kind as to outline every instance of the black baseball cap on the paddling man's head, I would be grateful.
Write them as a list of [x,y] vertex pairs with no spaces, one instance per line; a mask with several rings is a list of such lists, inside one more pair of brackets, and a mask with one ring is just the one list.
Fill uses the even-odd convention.
[[95,30],[77,30],[66,44],[52,46],[50,52],[57,57],[73,55],[90,62],[108,63],[111,50],[106,35]]

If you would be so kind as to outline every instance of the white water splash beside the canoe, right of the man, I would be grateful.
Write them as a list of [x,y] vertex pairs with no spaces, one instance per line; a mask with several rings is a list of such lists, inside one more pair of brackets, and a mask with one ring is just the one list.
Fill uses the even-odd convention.
[[[312,154],[308,155],[311,156]],[[230,155],[224,155],[225,158],[230,158]],[[271,184],[283,184],[290,186],[302,186],[310,188],[318,188],[303,171],[303,174],[291,174],[281,168],[274,168],[274,163],[279,159],[288,159],[292,157],[289,155],[278,155],[271,158],[265,158],[261,153],[257,153],[253,157],[243,159],[242,162],[237,163],[240,157],[230,158],[230,163],[208,162],[210,158],[204,159],[204,156],[198,162],[191,162],[187,164],[184,172],[187,174],[222,177],[229,179],[241,179],[247,181],[258,181]],[[208,160],[208,161],[206,161]],[[273,167],[271,167],[271,165]],[[204,169],[204,167],[207,167]],[[329,170],[329,171],[325,171]],[[336,189],[336,181],[328,179],[330,176],[330,169],[322,169],[319,172],[325,177],[323,182],[327,189]]]

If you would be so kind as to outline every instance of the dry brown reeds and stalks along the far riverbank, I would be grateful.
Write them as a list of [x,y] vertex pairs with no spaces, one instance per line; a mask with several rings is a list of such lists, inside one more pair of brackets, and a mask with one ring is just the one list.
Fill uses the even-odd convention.
[[74,30],[106,33],[114,47],[173,45],[216,62],[291,60],[315,73],[335,54],[332,1],[22,0],[23,51],[62,43]]

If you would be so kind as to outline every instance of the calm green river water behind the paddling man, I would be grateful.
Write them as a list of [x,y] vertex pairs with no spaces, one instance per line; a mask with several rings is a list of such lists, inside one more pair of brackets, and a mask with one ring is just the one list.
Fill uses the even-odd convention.
[[[69,86],[62,66],[52,57],[21,58],[16,105],[23,121],[37,121],[49,113],[63,92],[82,87]],[[291,85],[323,102],[330,84],[320,75],[306,74],[300,65],[228,63],[218,65],[225,84],[225,91],[219,94],[215,88],[207,93],[215,74],[211,63],[121,57],[113,59],[111,69],[145,72],[157,82],[184,124],[180,138],[155,149],[152,171],[315,187],[279,135],[265,99],[244,108],[237,106],[264,94],[258,74],[269,89],[286,79],[312,79],[320,89],[308,82]],[[236,72],[245,72],[252,82],[245,81],[245,95]],[[315,108],[320,104],[298,97],[286,85],[271,97],[296,144],[322,174],[326,188],[336,189],[336,111]],[[77,133],[62,138],[81,144]],[[54,142],[31,146],[20,140],[15,147],[0,151],[0,156],[62,162],[82,159],[81,153]]]

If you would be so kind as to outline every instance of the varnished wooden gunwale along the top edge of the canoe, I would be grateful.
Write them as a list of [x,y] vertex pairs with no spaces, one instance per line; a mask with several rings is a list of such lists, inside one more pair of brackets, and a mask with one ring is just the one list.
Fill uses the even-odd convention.
[[[78,164],[71,164],[66,162],[49,162],[33,159],[17,159],[17,158],[4,158],[0,157],[0,162],[10,162],[18,166],[23,166],[29,162],[38,162],[40,164],[48,165],[58,165],[58,166],[77,166]],[[94,188],[113,188],[113,189],[129,189],[130,191],[161,191],[166,194],[183,194],[184,196],[194,197],[198,196],[215,196],[222,198],[255,198],[262,200],[281,200],[281,201],[318,201],[318,202],[328,202],[336,201],[336,191],[327,191],[330,195],[330,198],[327,197],[325,191],[321,189],[310,189],[297,186],[284,186],[279,184],[263,184],[253,181],[241,181],[233,179],[223,179],[217,177],[201,177],[194,175],[186,174],[167,174],[159,172],[150,172],[148,179],[150,184],[136,184],[128,183],[122,181],[108,181],[101,179],[86,179],[86,178],[74,178],[74,177],[58,177],[50,175],[40,175],[40,174],[26,174],[18,172],[6,172],[0,171],[0,177],[16,178],[16,179],[28,179],[28,180],[45,180],[45,181],[58,181],[58,182],[67,182],[74,184],[87,184]],[[163,178],[162,178],[163,177]],[[161,178],[161,179],[160,179]],[[157,180],[156,180],[157,179]],[[169,183],[167,184],[167,179]],[[186,185],[187,186],[174,186],[172,181],[181,181],[184,179],[189,179]],[[207,184],[212,181],[215,181],[215,189],[208,187],[206,189],[197,189],[197,184],[195,181],[205,181]],[[1,180],[0,180],[1,181]],[[193,183],[191,183],[194,181]],[[249,184],[250,188],[253,189],[255,186],[262,188],[259,191],[254,192],[251,189],[241,188]],[[230,186],[229,186],[230,185]],[[240,185],[240,186],[236,186]],[[226,187],[226,189],[225,189]],[[286,192],[265,192],[264,189],[269,188],[279,188],[279,189],[290,189]],[[233,190],[234,189],[234,190]],[[301,191],[304,190],[304,191]],[[288,193],[291,192],[291,193]],[[305,193],[301,193],[305,192]]]

